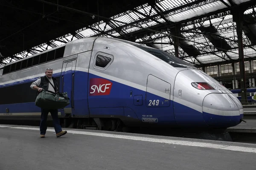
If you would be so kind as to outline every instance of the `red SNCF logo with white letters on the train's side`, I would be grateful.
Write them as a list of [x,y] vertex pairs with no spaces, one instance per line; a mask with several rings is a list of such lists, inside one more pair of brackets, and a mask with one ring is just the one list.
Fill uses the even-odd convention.
[[90,79],[90,96],[109,95],[112,83],[106,79]]

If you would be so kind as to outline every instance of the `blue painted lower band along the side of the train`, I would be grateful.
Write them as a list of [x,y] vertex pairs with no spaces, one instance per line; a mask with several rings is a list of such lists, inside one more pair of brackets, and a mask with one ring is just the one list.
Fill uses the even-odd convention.
[[[54,77],[60,76],[59,74],[54,74]],[[65,75],[66,76],[66,75]],[[67,77],[71,74],[67,75]],[[102,78],[93,74],[89,74],[89,78]],[[23,82],[32,82],[34,79],[27,79]],[[75,108],[72,114],[75,116],[89,116],[88,104],[87,104],[87,94],[90,92],[89,87],[87,87],[88,73],[76,71],[74,79],[74,105]],[[111,93],[106,96],[88,96],[89,99],[89,110],[90,116],[99,115],[112,115],[112,116],[126,116],[134,119],[140,119],[143,122],[158,122],[159,124],[167,125],[178,125],[178,126],[198,126],[207,127],[220,126],[220,127],[230,127],[239,123],[239,116],[218,116],[209,113],[201,113],[189,108],[185,105],[179,104],[169,100],[169,104],[162,105],[161,101],[164,99],[160,96],[154,94],[147,94],[147,102],[145,101],[146,92],[130,87],[128,85],[123,85],[119,82],[112,82]],[[12,83],[12,85],[16,84]],[[11,85],[11,83],[9,84]],[[60,87],[61,87],[60,83]],[[3,86],[0,86],[3,87]],[[32,89],[31,89],[32,91]],[[132,91],[132,97],[131,95]],[[69,93],[70,95],[70,93]],[[134,96],[141,96],[142,105],[136,105],[137,98]],[[147,107],[145,103],[148,103],[150,99],[159,100],[162,106],[167,107]],[[172,107],[174,106],[174,108]],[[13,104],[13,105],[0,105],[0,113],[5,113],[6,108],[9,108],[10,113],[33,113],[41,112],[41,109],[35,106],[35,103],[23,103],[23,104]],[[64,116],[63,110],[61,115]],[[175,114],[174,114],[175,111]],[[230,121],[229,121],[230,120]],[[230,122],[230,123],[229,123]]]

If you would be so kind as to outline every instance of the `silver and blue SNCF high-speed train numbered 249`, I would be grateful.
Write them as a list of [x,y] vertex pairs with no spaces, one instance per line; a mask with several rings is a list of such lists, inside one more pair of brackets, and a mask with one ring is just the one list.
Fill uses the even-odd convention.
[[30,85],[46,68],[70,98],[59,109],[65,127],[227,128],[243,118],[237,97],[189,63],[135,42],[89,37],[0,68],[0,119],[40,120]]

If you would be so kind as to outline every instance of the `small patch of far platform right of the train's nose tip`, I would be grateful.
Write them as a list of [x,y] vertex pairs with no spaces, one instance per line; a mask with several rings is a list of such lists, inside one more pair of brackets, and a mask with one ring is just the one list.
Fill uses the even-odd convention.
[[239,125],[234,127],[229,127],[227,130],[229,132],[238,133],[256,133],[256,120],[245,120],[246,122],[241,122]]

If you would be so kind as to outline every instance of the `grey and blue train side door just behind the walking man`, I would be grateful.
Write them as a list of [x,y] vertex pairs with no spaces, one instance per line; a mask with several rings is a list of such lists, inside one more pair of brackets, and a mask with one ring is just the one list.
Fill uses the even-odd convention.
[[74,79],[75,79],[75,68],[76,68],[76,57],[70,57],[63,62],[61,70],[61,92],[67,92],[67,96],[70,98],[70,104],[64,108],[64,113],[72,113],[75,109],[74,103]]

